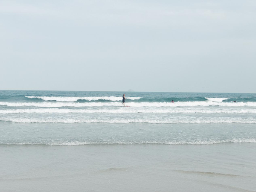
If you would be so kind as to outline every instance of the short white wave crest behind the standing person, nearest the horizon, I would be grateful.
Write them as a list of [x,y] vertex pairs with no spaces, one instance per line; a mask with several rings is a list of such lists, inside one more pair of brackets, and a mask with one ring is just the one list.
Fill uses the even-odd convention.
[[[116,97],[116,96],[103,96],[103,97],[47,97],[47,96],[25,96],[29,99],[37,98],[37,99],[43,99],[44,101],[61,101],[61,102],[75,102],[79,99],[81,100],[87,100],[87,101],[96,101],[96,100],[108,100],[108,101],[122,101],[122,97]],[[126,99],[130,100],[137,100],[141,97],[126,97]]]

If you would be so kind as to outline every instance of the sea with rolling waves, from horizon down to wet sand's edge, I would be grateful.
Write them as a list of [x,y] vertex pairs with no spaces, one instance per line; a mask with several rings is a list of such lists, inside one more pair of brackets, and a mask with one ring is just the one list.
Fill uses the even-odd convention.
[[256,143],[256,94],[122,94],[1,90],[0,144]]

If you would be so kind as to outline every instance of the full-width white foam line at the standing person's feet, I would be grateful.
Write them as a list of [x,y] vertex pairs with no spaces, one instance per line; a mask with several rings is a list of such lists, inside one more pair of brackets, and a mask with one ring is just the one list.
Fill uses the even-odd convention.
[[[33,107],[100,107],[100,106],[123,106],[121,102],[86,102],[86,103],[73,103],[73,102],[0,102],[0,105],[10,107],[33,106]],[[243,107],[253,106],[256,107],[256,102],[128,102],[126,105],[131,107],[180,107],[180,106],[230,106],[230,107]]]

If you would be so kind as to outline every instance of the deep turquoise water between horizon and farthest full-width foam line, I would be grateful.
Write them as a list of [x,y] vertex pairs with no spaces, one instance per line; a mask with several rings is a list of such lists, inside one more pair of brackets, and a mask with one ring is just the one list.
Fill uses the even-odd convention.
[[[44,102],[42,99],[29,99],[25,96],[46,97],[140,97],[133,102],[186,102],[207,101],[208,98],[228,98],[223,102],[256,102],[256,93],[168,93],[168,92],[102,92],[102,91],[24,91],[24,90],[0,90],[1,102]],[[54,99],[52,99],[54,101]],[[68,101],[68,99],[67,99]],[[111,100],[100,99],[91,102],[110,102]],[[129,100],[127,100],[128,102]],[[77,98],[77,102],[88,102],[86,99]]]

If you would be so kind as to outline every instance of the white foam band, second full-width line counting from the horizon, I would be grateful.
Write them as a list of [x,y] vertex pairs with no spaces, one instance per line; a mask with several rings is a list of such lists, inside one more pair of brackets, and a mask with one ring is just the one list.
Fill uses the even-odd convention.
[[186,109],[186,108],[119,108],[119,109],[7,109],[0,114],[8,113],[256,113],[256,109]]

